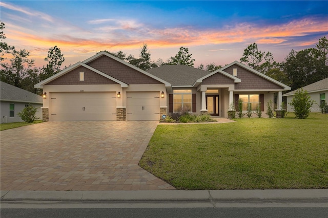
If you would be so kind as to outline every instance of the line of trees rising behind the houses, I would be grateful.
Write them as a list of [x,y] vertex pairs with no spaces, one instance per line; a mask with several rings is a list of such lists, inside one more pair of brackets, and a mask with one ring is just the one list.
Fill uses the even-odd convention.
[[[4,42],[6,38],[3,32],[4,28],[5,24],[0,21],[1,81],[32,93],[42,94],[41,90],[34,88],[34,84],[67,68],[66,66],[61,67],[65,61],[64,54],[57,46],[54,46],[49,49],[48,55],[44,59],[47,61],[46,66],[36,68],[34,60],[29,58],[29,51],[25,49],[16,50],[14,46],[9,46]],[[167,61],[162,59],[152,61],[147,44],[142,46],[139,57],[134,57],[132,54],[128,55],[122,51],[110,52],[105,50],[105,52],[145,71],[164,64],[181,64],[194,67],[195,61],[192,54],[189,54],[189,49],[185,47],[180,47],[178,53],[168,58]],[[4,61],[5,59],[9,59],[9,61]],[[252,43],[244,50],[240,62],[291,86],[292,90],[296,90],[328,77],[328,40],[326,37],[322,37],[316,48],[298,52],[292,50],[281,63],[274,60],[271,52],[262,52],[258,50],[256,43]],[[210,63],[206,66],[200,64],[197,68],[213,72],[221,67],[215,63]]]

